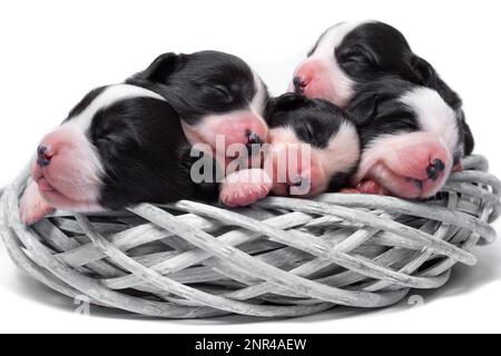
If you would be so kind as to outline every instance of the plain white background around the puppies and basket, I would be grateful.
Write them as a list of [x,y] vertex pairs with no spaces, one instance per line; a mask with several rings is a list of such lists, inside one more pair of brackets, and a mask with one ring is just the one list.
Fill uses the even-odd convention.
[[[1,1],[0,185],[89,89],[119,82],[164,51],[240,56],[282,93],[294,66],[340,21],[379,19],[401,29],[461,93],[477,137],[501,176],[499,1]],[[501,225],[497,225],[501,230]],[[295,320],[242,317],[173,322],[92,310],[20,274],[0,247],[0,332],[335,333],[501,332],[501,243],[479,247],[424,306],[336,309]]]

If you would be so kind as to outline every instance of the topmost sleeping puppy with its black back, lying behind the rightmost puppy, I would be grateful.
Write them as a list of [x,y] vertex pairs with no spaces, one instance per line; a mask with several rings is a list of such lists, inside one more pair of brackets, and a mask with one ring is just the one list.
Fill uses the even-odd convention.
[[343,22],[327,29],[295,69],[289,90],[345,108],[357,86],[389,75],[436,90],[458,111],[464,132],[464,154],[472,152],[473,136],[464,120],[460,97],[429,62],[412,52],[404,36],[389,24]]

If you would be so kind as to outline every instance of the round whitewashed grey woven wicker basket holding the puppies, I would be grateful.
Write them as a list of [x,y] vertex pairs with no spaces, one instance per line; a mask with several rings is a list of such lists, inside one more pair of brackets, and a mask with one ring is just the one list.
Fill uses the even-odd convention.
[[0,201],[16,264],[71,298],[165,318],[294,317],[336,305],[377,308],[444,285],[471,249],[495,238],[501,182],[464,161],[435,199],[330,194],[267,198],[226,210],[193,201],[112,215],[60,212],[28,228],[18,197]]

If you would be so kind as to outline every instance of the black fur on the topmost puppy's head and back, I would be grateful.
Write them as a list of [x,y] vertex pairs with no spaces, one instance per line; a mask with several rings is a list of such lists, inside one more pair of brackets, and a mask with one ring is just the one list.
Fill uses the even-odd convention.
[[[316,44],[311,55],[315,48]],[[412,51],[399,30],[382,22],[363,23],[346,34],[333,56],[343,71],[358,85],[390,75],[436,90],[462,117],[459,129],[463,137],[464,155],[473,151],[474,139],[464,120],[461,98],[426,60]]]

